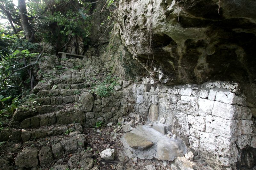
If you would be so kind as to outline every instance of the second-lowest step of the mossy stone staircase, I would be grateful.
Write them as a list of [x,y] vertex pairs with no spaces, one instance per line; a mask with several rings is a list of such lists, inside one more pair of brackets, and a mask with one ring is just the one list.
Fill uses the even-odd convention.
[[26,142],[29,140],[41,139],[49,136],[68,135],[73,131],[83,131],[82,126],[79,123],[72,123],[68,125],[51,125],[41,128],[27,128],[27,129],[15,129],[12,132],[11,141]]

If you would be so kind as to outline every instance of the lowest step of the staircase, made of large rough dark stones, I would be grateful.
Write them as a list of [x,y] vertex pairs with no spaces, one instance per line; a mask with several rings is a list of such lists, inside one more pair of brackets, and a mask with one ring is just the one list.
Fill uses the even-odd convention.
[[[77,127],[73,129],[74,126]],[[72,156],[79,156],[81,158],[81,163],[77,166],[84,167],[84,165],[89,165],[90,162],[91,166],[89,169],[91,169],[94,163],[92,159],[93,154],[91,152],[84,152],[87,141],[85,135],[79,131],[81,127],[79,128],[78,126],[68,125],[68,129],[76,130],[68,135],[37,138],[23,143],[6,142],[5,148],[8,152],[0,156],[1,169],[14,169],[14,167],[15,169],[68,169],[68,165],[58,165],[58,167],[52,168],[55,166],[52,163],[60,158],[69,159],[69,153],[72,153]],[[60,132],[65,130],[59,128]],[[57,130],[54,134],[58,134]],[[82,161],[84,159],[86,161]],[[51,164],[52,166],[50,166]]]

